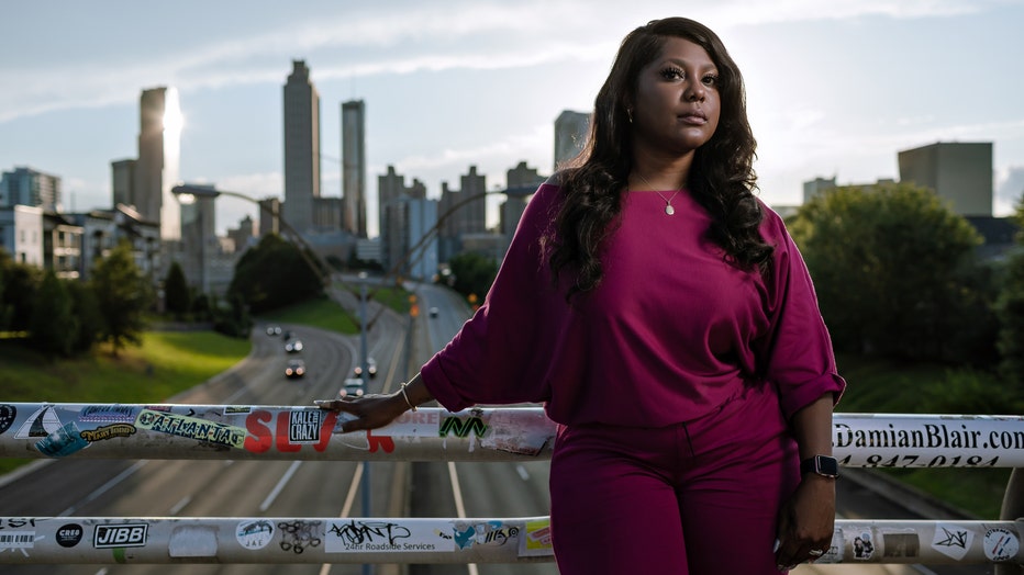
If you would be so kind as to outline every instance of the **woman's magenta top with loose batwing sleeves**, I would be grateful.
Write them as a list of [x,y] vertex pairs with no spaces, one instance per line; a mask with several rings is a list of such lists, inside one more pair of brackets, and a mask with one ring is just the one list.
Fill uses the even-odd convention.
[[830,392],[838,401],[846,383],[778,214],[763,205],[775,255],[761,274],[723,261],[688,193],[672,199],[675,215],[655,192],[623,193],[604,277],[569,304],[538,241],[561,198],[557,185],[537,190],[483,304],[423,365],[445,408],[537,402],[559,424],[660,427],[759,382],[777,388],[787,417]]

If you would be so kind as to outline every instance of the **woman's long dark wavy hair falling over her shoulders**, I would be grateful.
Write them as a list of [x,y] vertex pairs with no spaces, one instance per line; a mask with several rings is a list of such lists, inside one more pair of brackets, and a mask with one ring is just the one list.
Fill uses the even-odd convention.
[[695,150],[687,181],[690,193],[711,216],[708,237],[722,247],[725,261],[732,266],[764,272],[770,264],[773,248],[758,233],[763,214],[753,193],[757,143],[747,121],[739,69],[719,36],[703,24],[684,18],[654,20],[622,41],[594,101],[587,146],[574,166],[559,174],[564,201],[553,229],[542,241],[556,283],[563,271],[576,274],[567,300],[596,288],[604,274],[601,244],[614,230],[633,168],[626,110],[635,100],[641,70],[661,55],[671,37],[704,48],[719,72],[719,125],[711,139]]

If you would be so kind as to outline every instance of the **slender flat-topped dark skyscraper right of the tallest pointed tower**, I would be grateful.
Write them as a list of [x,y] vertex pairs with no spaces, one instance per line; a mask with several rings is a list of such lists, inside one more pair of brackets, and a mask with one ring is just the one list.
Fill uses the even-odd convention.
[[366,106],[342,103],[342,229],[366,237]]

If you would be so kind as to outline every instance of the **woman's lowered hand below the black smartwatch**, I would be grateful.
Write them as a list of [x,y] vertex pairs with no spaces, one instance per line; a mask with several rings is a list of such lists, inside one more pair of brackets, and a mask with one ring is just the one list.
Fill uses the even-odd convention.
[[835,528],[835,480],[813,473],[803,476],[782,505],[776,530],[779,571],[788,571],[828,552]]

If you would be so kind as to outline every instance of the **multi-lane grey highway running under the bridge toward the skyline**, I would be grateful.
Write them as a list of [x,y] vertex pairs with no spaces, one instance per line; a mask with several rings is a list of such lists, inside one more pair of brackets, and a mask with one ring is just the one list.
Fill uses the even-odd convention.
[[[423,311],[407,337],[408,318],[385,312],[368,337],[380,372],[370,392],[393,390],[426,361],[469,316],[465,303],[435,285],[410,285]],[[343,297],[346,295],[342,294]],[[347,295],[350,297],[350,294]],[[437,317],[425,311],[437,307]],[[253,352],[233,370],[168,403],[310,405],[333,397],[359,357],[359,338],[303,326],[282,326],[305,343],[303,380],[283,376],[292,354],[263,326]],[[114,401],[115,398],[111,398]],[[370,509],[361,480],[370,476]],[[838,512],[846,518],[914,518],[912,511],[856,481],[838,483]],[[0,483],[4,516],[268,516],[268,517],[525,517],[548,512],[547,461],[520,463],[385,463],[315,461],[45,460],[14,481]],[[297,540],[298,541],[298,540]],[[301,552],[299,542],[290,552]],[[359,574],[360,565],[4,565],[4,574]],[[522,565],[375,565],[379,575],[548,575],[554,563]],[[804,574],[980,575],[991,567],[803,565]]]

